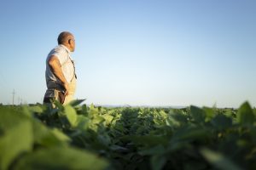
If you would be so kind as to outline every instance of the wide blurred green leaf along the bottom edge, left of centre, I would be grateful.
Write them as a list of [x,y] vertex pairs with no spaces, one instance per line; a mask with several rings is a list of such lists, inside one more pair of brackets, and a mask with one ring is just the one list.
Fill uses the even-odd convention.
[[15,170],[95,169],[108,167],[108,161],[86,150],[55,147],[37,150],[24,156],[15,165]]

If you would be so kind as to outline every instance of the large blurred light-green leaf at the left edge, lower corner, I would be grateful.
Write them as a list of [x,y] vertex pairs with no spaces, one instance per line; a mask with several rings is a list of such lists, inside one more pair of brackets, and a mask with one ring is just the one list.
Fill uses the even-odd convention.
[[[0,137],[0,169],[5,170],[21,153],[32,150],[32,122],[26,116],[12,112],[1,113],[0,120],[9,127]],[[12,120],[14,123],[9,124]]]

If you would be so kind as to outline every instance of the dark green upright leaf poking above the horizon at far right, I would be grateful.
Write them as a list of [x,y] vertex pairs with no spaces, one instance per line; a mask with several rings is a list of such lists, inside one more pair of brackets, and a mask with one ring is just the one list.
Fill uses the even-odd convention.
[[237,121],[241,125],[253,125],[254,119],[253,109],[248,102],[245,102],[237,111]]

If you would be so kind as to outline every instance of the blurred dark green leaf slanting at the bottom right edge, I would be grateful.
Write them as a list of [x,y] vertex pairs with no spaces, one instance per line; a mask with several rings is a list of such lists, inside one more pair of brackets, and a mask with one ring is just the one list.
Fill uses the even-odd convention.
[[204,156],[209,163],[218,169],[232,169],[232,170],[241,170],[240,167],[237,167],[235,162],[230,161],[229,158],[225,157],[221,153],[209,150],[207,148],[201,149],[201,155]]

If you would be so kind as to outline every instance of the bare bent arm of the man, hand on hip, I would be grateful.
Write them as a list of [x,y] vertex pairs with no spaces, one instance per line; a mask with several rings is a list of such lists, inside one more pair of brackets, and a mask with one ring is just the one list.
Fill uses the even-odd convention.
[[66,94],[68,94],[68,91],[67,91],[68,83],[67,83],[66,78],[63,75],[63,72],[61,71],[60,60],[55,55],[52,55],[49,58],[48,64],[49,64],[51,71],[62,82],[62,85],[64,86],[64,88],[66,88]]

